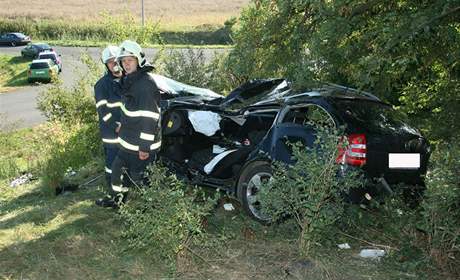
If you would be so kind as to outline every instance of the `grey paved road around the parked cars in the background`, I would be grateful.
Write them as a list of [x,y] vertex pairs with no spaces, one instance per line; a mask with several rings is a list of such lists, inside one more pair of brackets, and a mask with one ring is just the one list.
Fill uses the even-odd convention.
[[[0,54],[20,55],[23,47],[0,47]],[[88,52],[94,59],[99,59],[100,48],[55,47],[62,55],[63,70],[60,75],[66,87],[74,85],[78,74],[76,71],[87,71],[80,62],[82,52]],[[147,58],[153,58],[157,49],[145,49]],[[216,50],[204,50],[205,57],[210,59]],[[218,52],[220,50],[217,50]],[[83,72],[84,73],[84,72]],[[36,84],[25,86],[8,93],[0,94],[0,129],[32,127],[43,123],[46,119],[37,109],[37,96],[49,85]]]

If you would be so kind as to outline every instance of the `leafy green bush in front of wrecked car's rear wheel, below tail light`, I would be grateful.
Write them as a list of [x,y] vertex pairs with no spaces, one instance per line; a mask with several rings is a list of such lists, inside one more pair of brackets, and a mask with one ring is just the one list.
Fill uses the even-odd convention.
[[340,139],[336,131],[317,127],[314,146],[292,144],[296,163],[288,168],[276,164],[273,180],[261,189],[260,201],[268,216],[274,221],[295,219],[305,255],[334,232],[334,224],[344,211],[343,195],[362,185],[359,173],[339,176],[341,166],[336,159]]

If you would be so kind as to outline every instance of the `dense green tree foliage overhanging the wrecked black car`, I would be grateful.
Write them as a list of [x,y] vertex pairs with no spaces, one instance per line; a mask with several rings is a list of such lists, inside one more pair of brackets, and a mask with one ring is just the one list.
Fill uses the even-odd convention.
[[371,90],[446,138],[460,123],[459,21],[458,0],[253,0],[228,65],[242,81]]

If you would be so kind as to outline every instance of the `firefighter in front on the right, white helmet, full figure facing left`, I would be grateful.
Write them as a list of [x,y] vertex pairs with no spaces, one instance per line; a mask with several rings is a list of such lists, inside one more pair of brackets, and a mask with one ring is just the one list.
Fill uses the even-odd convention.
[[112,164],[111,200],[104,201],[104,206],[113,208],[126,200],[129,191],[123,176],[129,176],[134,184],[142,183],[147,165],[161,147],[160,92],[149,73],[153,66],[139,44],[129,40],[120,45],[117,61],[123,68],[120,151]]

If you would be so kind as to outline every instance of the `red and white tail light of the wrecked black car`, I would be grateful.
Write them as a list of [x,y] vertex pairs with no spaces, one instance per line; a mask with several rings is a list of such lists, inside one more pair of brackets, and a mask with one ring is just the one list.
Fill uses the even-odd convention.
[[366,164],[366,154],[366,135],[350,134],[348,135],[347,147],[343,147],[343,143],[340,143],[339,155],[336,162],[353,166],[363,166]]

